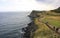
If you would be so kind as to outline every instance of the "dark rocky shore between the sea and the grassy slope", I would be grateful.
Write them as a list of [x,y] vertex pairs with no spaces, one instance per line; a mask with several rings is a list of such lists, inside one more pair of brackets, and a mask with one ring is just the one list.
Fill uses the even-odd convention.
[[34,23],[34,18],[36,17],[35,13],[32,11],[31,14],[29,15],[29,17],[32,20],[32,22],[29,23],[27,27],[22,28],[22,31],[25,32],[23,34],[23,38],[33,38],[33,35],[34,35],[33,33],[37,29],[37,25],[35,25],[35,23]]

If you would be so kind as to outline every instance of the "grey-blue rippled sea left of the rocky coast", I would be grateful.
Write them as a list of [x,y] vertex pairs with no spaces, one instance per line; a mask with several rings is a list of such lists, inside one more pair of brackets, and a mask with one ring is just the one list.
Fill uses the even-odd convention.
[[31,22],[29,12],[1,12],[0,38],[21,38],[21,29]]

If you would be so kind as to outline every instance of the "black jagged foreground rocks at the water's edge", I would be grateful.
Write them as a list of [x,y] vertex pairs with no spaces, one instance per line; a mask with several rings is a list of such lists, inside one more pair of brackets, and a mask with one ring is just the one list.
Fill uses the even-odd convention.
[[22,28],[22,30],[25,32],[24,35],[23,35],[23,37],[24,38],[30,38],[30,37],[32,37],[31,33],[33,33],[36,29],[37,29],[37,26],[32,21],[31,23],[28,24],[27,27]]

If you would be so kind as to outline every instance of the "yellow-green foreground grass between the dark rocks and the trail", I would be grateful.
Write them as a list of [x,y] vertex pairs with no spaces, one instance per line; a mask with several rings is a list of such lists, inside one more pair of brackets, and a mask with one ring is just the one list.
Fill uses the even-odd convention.
[[[49,19],[44,19],[45,22],[47,20]],[[54,35],[56,35],[57,38],[60,38],[60,36],[56,34],[56,32],[49,29],[45,24],[39,22],[38,18],[35,19],[35,24],[38,26],[38,29],[34,32],[33,38],[55,38]]]

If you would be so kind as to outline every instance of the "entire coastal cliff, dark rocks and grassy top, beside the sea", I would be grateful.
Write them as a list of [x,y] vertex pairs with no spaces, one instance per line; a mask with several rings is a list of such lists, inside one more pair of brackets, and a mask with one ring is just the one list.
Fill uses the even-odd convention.
[[[57,20],[59,20],[59,19],[56,20],[57,17],[58,18],[60,17],[60,16],[58,16],[58,14],[55,12],[52,12],[52,11],[33,10],[31,12],[31,14],[29,15],[32,22],[29,23],[27,27],[22,28],[22,30],[25,32],[23,37],[24,38],[37,38],[37,37],[39,37],[39,38],[56,38],[56,37],[60,37],[59,34],[57,34],[55,31],[55,29],[57,29],[58,27],[55,28],[56,26],[53,26],[55,24],[55,22]],[[52,24],[52,27],[46,22],[49,22],[49,24]],[[60,22],[58,21],[56,23],[57,23],[57,25],[59,25],[58,23],[60,23]],[[58,30],[60,30],[60,29],[58,29]]]

